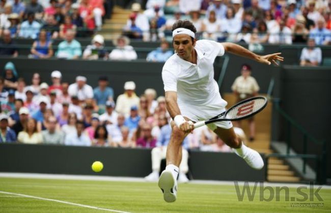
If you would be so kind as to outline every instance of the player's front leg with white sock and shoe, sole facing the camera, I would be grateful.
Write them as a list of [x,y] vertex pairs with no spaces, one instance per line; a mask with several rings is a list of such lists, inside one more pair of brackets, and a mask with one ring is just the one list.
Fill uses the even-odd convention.
[[163,198],[167,202],[175,202],[177,199],[177,177],[182,160],[182,142],[187,134],[172,125],[171,139],[167,147],[167,167],[161,173],[158,186],[163,192]]

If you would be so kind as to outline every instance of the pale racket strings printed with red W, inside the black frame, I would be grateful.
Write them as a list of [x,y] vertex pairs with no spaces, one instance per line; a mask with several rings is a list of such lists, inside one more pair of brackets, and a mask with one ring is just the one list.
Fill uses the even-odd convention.
[[260,110],[265,105],[265,99],[254,99],[234,106],[226,114],[229,119],[245,117]]

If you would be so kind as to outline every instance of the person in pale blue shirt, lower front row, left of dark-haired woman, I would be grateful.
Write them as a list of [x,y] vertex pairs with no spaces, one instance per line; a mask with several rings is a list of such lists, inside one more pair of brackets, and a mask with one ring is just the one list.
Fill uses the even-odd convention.
[[91,140],[89,136],[84,134],[84,123],[82,121],[77,121],[76,123],[76,133],[68,134],[65,137],[64,143],[65,145],[72,146],[91,146]]

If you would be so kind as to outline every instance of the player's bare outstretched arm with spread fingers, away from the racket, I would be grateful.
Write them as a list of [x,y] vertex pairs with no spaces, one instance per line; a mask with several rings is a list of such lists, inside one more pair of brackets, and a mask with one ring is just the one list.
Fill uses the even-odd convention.
[[232,54],[235,55],[239,55],[242,57],[246,57],[246,58],[250,58],[252,60],[256,60],[259,63],[262,64],[266,64],[266,65],[270,65],[271,63],[273,63],[274,65],[279,65],[277,63],[277,61],[283,61],[284,57],[280,56],[282,53],[278,52],[278,53],[273,53],[273,54],[269,54],[269,55],[258,55],[255,54],[254,52],[251,52],[250,50],[247,50],[246,48],[234,44],[234,43],[230,43],[230,42],[224,42],[222,43],[225,51],[230,52]]

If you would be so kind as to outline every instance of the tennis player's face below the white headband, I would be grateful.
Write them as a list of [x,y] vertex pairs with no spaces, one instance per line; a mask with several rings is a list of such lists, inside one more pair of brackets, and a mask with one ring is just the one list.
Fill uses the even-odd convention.
[[194,43],[192,43],[191,37],[186,34],[176,35],[173,41],[175,51],[184,60],[188,60],[191,57],[195,44],[196,41],[194,40]]

